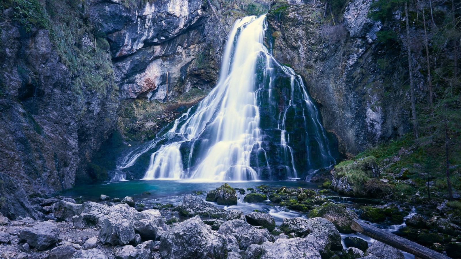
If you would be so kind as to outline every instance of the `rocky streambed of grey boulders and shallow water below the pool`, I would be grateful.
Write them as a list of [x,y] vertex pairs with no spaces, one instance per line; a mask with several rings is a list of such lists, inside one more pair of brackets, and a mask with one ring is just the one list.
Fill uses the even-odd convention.
[[[0,257],[411,258],[378,241],[360,238],[350,230],[350,222],[359,218],[359,212],[361,219],[380,220],[376,225],[385,228],[393,220],[400,222],[396,215],[401,215],[398,226],[406,227],[403,220],[419,222],[420,215],[396,205],[361,206],[360,211],[347,199],[333,202],[335,197],[327,192],[266,185],[234,189],[223,184],[207,192],[163,198],[100,195],[100,201],[82,204],[62,196],[35,198],[35,206],[44,214],[42,220],[0,218]],[[375,218],[380,209],[384,219]]]

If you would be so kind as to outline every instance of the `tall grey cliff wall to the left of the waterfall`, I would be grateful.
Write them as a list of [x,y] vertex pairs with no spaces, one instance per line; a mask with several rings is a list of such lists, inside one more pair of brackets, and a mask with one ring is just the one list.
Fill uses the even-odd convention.
[[10,218],[40,217],[28,197],[106,180],[90,163],[117,126],[120,100],[165,101],[217,78],[204,72],[217,66],[201,0],[32,2],[38,10],[0,9],[0,207]]

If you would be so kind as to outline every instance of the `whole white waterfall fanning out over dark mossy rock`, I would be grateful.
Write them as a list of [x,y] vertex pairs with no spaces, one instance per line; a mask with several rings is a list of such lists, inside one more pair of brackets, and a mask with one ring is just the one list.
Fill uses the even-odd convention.
[[264,15],[237,20],[216,87],[118,169],[151,152],[144,179],[286,180],[333,165],[319,111],[265,46],[266,27]]

